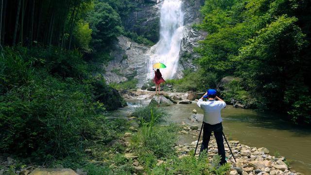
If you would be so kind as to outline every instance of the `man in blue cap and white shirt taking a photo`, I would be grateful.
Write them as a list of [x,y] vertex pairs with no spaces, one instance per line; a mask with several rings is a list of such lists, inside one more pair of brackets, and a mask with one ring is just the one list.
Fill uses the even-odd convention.
[[[197,102],[197,105],[204,111],[203,141],[200,153],[204,149],[208,149],[208,142],[213,131],[217,142],[218,155],[222,157],[220,165],[223,165],[226,163],[226,160],[223,140],[223,125],[220,112],[223,108],[225,108],[226,104],[222,99],[216,96],[216,93],[215,89],[208,89],[203,97],[201,97],[201,99]],[[203,101],[204,98],[207,98],[208,100],[205,102]]]

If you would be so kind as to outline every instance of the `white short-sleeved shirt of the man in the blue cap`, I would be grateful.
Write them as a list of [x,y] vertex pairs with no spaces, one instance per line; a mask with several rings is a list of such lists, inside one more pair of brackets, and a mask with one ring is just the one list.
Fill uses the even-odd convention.
[[216,100],[208,100],[207,102],[204,102],[200,99],[197,105],[204,111],[203,122],[217,124],[223,121],[220,111],[225,108],[225,102]]

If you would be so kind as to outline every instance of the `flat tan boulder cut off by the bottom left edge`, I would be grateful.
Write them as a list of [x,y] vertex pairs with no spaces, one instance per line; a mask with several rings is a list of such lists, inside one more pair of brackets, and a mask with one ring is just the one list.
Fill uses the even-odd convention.
[[30,175],[78,175],[69,168],[37,168]]

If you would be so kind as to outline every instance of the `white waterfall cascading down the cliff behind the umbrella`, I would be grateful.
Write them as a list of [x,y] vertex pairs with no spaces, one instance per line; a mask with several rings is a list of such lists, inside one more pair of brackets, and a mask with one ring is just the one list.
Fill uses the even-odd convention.
[[181,0],[164,0],[160,9],[160,40],[151,47],[147,78],[153,78],[152,65],[161,62],[164,78],[173,78],[178,67],[180,42],[183,37]]

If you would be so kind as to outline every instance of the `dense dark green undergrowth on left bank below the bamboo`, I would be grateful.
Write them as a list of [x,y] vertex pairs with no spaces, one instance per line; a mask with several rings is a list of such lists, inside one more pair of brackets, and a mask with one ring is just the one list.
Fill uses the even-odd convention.
[[98,131],[108,132],[101,112],[124,101],[90,69],[77,51],[5,48],[0,57],[0,151],[60,157],[83,148]]

